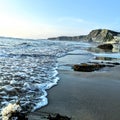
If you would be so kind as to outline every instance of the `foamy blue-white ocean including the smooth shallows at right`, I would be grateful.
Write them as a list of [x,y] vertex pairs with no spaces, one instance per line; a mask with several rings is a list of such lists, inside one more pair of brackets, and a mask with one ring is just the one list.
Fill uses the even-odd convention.
[[61,69],[89,61],[120,62],[119,45],[114,51],[101,51],[96,45],[0,38],[0,111],[18,100],[25,111],[47,105],[46,90],[58,84]]

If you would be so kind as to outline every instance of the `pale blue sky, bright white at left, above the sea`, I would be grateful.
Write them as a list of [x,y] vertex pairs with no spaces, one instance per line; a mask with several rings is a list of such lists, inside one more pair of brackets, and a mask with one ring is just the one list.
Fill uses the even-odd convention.
[[120,0],[0,0],[0,36],[43,39],[120,31]]

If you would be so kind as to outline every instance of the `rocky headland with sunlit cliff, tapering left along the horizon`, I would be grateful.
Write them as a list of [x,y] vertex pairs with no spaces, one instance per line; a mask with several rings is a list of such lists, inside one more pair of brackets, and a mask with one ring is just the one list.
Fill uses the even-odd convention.
[[86,41],[86,42],[120,42],[120,32],[108,29],[92,30],[88,35],[80,36],[60,36],[48,38],[48,40],[70,40],[70,41]]

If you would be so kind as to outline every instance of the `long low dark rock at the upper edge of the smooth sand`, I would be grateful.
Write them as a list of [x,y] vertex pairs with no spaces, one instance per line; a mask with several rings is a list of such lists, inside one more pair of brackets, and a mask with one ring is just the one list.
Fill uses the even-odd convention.
[[99,70],[101,68],[105,67],[104,64],[86,64],[86,63],[83,63],[81,65],[74,65],[73,66],[73,69],[75,71],[81,71],[81,72],[92,72],[92,71],[96,71],[96,70]]

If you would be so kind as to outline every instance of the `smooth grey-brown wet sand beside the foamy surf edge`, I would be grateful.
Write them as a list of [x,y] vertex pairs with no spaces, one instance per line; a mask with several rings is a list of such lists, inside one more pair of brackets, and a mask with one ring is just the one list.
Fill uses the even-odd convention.
[[120,120],[119,71],[120,66],[86,73],[59,70],[58,85],[48,90],[48,105],[31,113],[29,120],[46,120],[49,113],[72,120]]

